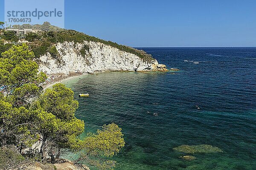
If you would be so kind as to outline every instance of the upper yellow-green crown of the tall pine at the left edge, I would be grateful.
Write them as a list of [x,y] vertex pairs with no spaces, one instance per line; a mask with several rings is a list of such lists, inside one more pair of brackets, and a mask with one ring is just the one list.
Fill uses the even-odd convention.
[[3,52],[0,58],[0,86],[15,106],[28,104],[30,98],[42,92],[39,84],[45,81],[46,75],[38,74],[38,64],[32,60],[34,57],[23,44]]

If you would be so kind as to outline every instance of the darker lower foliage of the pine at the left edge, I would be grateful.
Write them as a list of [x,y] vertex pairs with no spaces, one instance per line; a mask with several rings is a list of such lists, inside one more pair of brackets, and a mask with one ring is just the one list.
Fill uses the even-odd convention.
[[28,147],[35,143],[37,136],[32,134],[31,120],[34,115],[24,107],[15,108],[11,103],[0,100],[0,147],[15,145]]

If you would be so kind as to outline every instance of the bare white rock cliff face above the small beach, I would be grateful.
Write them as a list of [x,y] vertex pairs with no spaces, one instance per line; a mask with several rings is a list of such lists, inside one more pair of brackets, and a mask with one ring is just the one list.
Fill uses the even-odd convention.
[[[86,50],[81,52],[86,46]],[[135,54],[100,42],[56,44],[58,55],[41,56],[39,70],[46,74],[93,73],[95,71],[168,71],[157,60],[143,61]]]

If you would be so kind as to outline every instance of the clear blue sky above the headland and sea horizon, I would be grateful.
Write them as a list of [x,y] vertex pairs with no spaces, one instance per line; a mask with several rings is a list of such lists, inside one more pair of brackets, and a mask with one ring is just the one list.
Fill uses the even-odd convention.
[[256,46],[256,1],[65,0],[65,28],[133,47]]

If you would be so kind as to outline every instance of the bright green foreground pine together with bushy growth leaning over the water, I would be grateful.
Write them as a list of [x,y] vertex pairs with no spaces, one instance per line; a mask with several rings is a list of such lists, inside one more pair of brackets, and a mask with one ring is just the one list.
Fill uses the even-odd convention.
[[61,149],[79,151],[76,163],[86,163],[102,169],[113,167],[115,162],[103,157],[112,157],[124,147],[121,128],[114,123],[104,125],[97,133],[88,133],[86,138],[80,139],[79,136],[84,132],[84,122],[75,117],[78,102],[73,96],[71,89],[56,84],[52,89],[47,89],[35,103],[34,107],[39,111],[38,131],[42,141],[40,152],[45,158],[48,150],[48,155],[54,162]]

